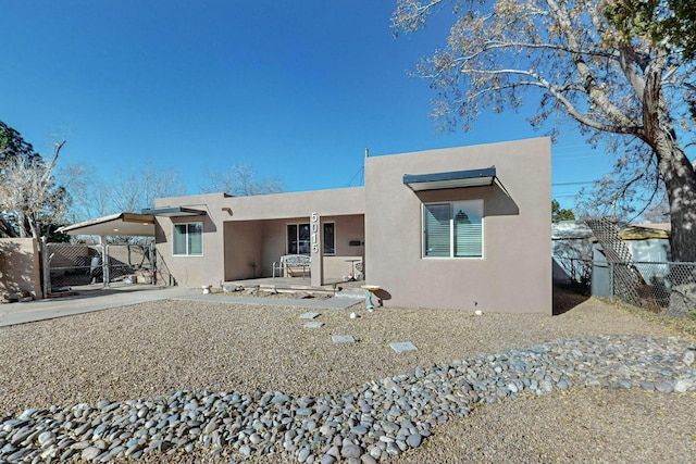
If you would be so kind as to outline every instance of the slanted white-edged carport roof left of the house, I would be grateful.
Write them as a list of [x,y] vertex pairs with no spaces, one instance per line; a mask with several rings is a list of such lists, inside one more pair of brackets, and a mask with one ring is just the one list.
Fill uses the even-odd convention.
[[58,231],[67,235],[98,235],[102,237],[154,237],[154,216],[151,214],[117,213],[61,227]]

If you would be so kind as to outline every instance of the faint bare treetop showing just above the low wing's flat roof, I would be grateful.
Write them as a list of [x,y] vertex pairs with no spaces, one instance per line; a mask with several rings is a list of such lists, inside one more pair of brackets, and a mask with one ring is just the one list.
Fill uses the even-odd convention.
[[235,197],[279,193],[285,185],[276,178],[257,180],[253,168],[248,164],[235,164],[225,172],[209,171],[208,181],[201,190],[208,193],[225,192]]

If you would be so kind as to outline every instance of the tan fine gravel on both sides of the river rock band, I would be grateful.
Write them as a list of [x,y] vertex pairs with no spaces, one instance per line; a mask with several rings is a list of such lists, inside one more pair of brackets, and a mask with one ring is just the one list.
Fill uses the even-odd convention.
[[[378,309],[318,311],[178,300],[0,328],[0,417],[29,407],[121,402],[176,391],[343,392],[372,380],[480,354],[588,335],[693,337],[591,299],[567,297],[557,316]],[[334,344],[352,335],[355,344]],[[418,351],[395,353],[389,342]],[[417,449],[381,462],[691,462],[696,393],[569,389],[476,406],[434,427]],[[225,455],[229,453],[229,455]],[[140,462],[297,462],[291,453],[245,457],[145,454]],[[319,462],[319,460],[316,461]]]

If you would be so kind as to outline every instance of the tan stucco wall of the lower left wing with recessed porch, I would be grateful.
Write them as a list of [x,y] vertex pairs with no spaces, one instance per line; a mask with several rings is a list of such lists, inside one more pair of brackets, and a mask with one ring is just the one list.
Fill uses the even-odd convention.
[[[273,262],[286,253],[286,224],[308,223],[313,212],[318,213],[322,221],[333,221],[336,216],[360,216],[357,220],[346,220],[346,225],[355,230],[361,224],[364,214],[364,188],[239,198],[209,193],[156,201],[156,208],[171,206],[198,209],[207,214],[174,218],[157,217],[156,241],[160,261],[165,263],[177,285],[219,286],[228,280],[251,278],[251,261],[257,263],[257,276],[271,276]],[[173,256],[172,224],[197,221],[203,221],[203,255]],[[351,234],[350,239],[352,238]],[[364,241],[362,230],[356,238]],[[348,239],[346,237],[346,240]],[[347,241],[345,244],[347,247]],[[362,248],[346,251],[346,254],[350,253],[361,255]],[[167,280],[163,284],[169,284]]]

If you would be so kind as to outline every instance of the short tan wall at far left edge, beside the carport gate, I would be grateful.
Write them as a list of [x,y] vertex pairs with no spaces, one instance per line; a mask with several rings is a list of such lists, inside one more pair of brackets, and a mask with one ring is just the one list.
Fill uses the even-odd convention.
[[0,238],[0,292],[42,298],[38,244],[33,238]]

